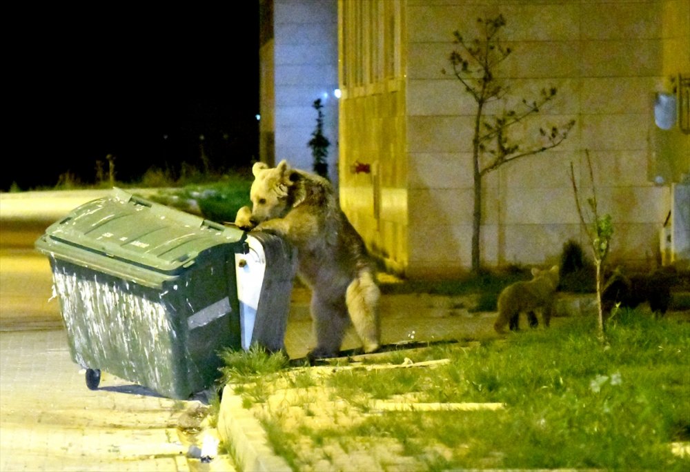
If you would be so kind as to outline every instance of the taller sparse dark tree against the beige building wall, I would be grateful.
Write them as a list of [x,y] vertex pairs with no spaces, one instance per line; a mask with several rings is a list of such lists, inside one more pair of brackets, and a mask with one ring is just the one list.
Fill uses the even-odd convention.
[[[522,99],[520,109],[506,106],[510,87],[506,81],[497,79],[500,64],[512,53],[500,39],[500,30],[506,21],[502,14],[496,18],[477,19],[480,37],[466,40],[460,32],[453,33],[455,48],[449,57],[453,66],[452,74],[462,83],[464,90],[474,99],[474,136],[472,139],[472,159],[474,178],[474,207],[472,224],[472,270],[480,269],[480,230],[482,225],[482,178],[507,162],[522,157],[543,153],[563,142],[573,128],[575,121],[560,127],[540,128],[539,144],[523,147],[519,138],[512,136],[515,125],[526,117],[540,111],[551,101],[557,90],[553,87],[543,89],[538,99]],[[459,49],[459,50],[458,50]],[[442,70],[445,74],[446,70]],[[503,110],[497,115],[487,115],[486,106],[495,101],[503,101]]]

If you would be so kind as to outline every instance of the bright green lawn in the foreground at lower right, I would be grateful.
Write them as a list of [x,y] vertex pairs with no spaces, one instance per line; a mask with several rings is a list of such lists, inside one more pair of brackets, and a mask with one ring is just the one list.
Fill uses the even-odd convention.
[[[321,383],[359,420],[294,431],[278,415],[270,436],[297,465],[295,446],[305,437],[315,447],[337,440],[343,449],[354,447],[348,438],[380,437],[430,470],[688,470],[690,458],[672,455],[669,444],[690,441],[690,324],[623,310],[609,321],[606,344],[595,331],[595,320],[572,318],[477,348],[432,346],[425,358],[450,360],[436,368],[335,369]],[[368,407],[369,400],[411,393],[418,402],[506,408],[377,413]]]

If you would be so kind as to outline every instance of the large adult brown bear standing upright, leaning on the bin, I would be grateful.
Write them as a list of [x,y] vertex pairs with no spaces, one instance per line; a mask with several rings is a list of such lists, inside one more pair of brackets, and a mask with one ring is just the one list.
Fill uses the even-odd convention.
[[342,212],[331,183],[290,168],[253,166],[251,210],[235,224],[284,237],[297,248],[299,277],[311,288],[311,316],[317,345],[310,359],[334,357],[352,322],[364,352],[380,346],[375,266],[362,237]]

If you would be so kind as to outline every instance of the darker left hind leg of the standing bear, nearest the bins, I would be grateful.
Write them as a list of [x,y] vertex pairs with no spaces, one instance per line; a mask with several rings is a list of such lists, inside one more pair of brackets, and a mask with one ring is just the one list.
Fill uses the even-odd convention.
[[345,331],[350,323],[344,300],[323,299],[317,291],[311,295],[311,318],[314,324],[316,347],[308,353],[310,359],[337,356]]

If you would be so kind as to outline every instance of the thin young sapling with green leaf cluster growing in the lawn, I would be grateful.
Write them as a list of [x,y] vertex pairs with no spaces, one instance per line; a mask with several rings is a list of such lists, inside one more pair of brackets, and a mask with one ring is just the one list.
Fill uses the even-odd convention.
[[[584,228],[589,242],[591,243],[592,253],[594,256],[594,264],[596,268],[596,290],[597,290],[597,308],[599,311],[598,317],[598,331],[601,340],[604,340],[604,308],[602,304],[602,294],[604,293],[604,262],[607,255],[609,255],[609,248],[611,247],[611,237],[613,237],[613,223],[611,222],[611,215],[599,215],[597,193],[594,185],[594,172],[592,170],[592,161],[589,158],[589,150],[585,150],[587,157],[587,166],[589,168],[589,181],[592,186],[592,196],[587,199],[589,205],[589,215],[585,217],[580,204],[580,191],[578,184],[575,183],[575,170],[573,163],[570,163],[570,180],[573,184],[573,192],[575,193],[575,204],[578,207],[578,215],[580,215],[580,223]],[[589,220],[589,221],[588,221]]]

